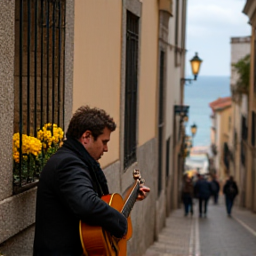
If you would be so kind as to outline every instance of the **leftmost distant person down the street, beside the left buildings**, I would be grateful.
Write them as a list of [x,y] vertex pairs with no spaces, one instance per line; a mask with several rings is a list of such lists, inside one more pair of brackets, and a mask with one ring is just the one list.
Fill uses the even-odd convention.
[[193,194],[194,186],[192,180],[186,174],[182,185],[182,201],[184,204],[185,216],[188,216],[188,212],[193,215]]

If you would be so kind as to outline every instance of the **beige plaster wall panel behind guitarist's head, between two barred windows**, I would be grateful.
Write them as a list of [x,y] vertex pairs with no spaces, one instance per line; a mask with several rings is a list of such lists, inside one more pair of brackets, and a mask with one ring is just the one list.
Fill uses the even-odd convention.
[[102,167],[119,159],[121,19],[120,0],[75,1],[73,112],[104,108],[117,124]]

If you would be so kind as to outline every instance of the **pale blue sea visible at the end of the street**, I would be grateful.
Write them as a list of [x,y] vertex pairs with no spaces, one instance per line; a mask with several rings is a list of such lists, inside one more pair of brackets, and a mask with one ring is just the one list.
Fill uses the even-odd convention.
[[209,103],[230,96],[229,79],[229,76],[198,76],[192,84],[185,85],[184,103],[189,106],[186,134],[191,136],[190,126],[196,124],[194,147],[210,146],[212,108]]

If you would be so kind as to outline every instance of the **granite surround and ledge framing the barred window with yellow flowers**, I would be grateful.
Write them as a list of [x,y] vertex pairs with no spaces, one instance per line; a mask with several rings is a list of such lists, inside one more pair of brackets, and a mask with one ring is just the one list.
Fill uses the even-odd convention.
[[[0,252],[4,256],[32,255],[36,212],[36,188],[12,196],[12,135],[17,101],[14,100],[15,4],[19,3],[20,0],[0,1]],[[66,8],[64,129],[72,113],[74,1],[66,0]]]

